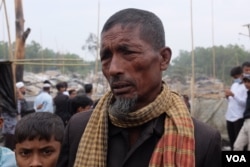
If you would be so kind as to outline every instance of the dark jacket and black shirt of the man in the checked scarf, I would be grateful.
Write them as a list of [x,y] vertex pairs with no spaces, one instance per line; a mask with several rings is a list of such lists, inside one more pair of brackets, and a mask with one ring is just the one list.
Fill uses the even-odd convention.
[[[78,144],[92,111],[75,114],[69,121],[57,167],[73,167]],[[165,115],[147,123],[142,136],[129,149],[125,129],[109,123],[107,167],[146,167],[154,147],[164,131]],[[193,119],[195,131],[195,166],[221,166],[221,136],[218,131]]]

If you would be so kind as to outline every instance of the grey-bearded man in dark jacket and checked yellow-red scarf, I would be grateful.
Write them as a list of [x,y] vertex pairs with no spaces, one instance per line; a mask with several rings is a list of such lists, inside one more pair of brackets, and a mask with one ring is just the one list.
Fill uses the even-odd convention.
[[171,49],[159,17],[123,9],[100,37],[110,91],[93,112],[70,119],[58,166],[220,167],[220,133],[192,118],[181,95],[162,80]]

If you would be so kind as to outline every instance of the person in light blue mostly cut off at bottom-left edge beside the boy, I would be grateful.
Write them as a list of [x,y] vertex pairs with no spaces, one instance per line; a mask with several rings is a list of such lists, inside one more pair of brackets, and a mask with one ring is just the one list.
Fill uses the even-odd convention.
[[[0,112],[0,128],[3,126],[3,118]],[[0,146],[0,166],[1,167],[17,167],[14,152],[7,148]]]

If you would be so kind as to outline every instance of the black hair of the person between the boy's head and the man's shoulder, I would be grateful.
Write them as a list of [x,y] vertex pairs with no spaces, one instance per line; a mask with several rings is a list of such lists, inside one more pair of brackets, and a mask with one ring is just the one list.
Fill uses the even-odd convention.
[[79,107],[86,107],[86,106],[92,106],[93,105],[93,100],[90,99],[86,95],[77,95],[75,96],[72,101],[71,101],[71,106],[72,106],[72,114],[76,113],[76,110]]

